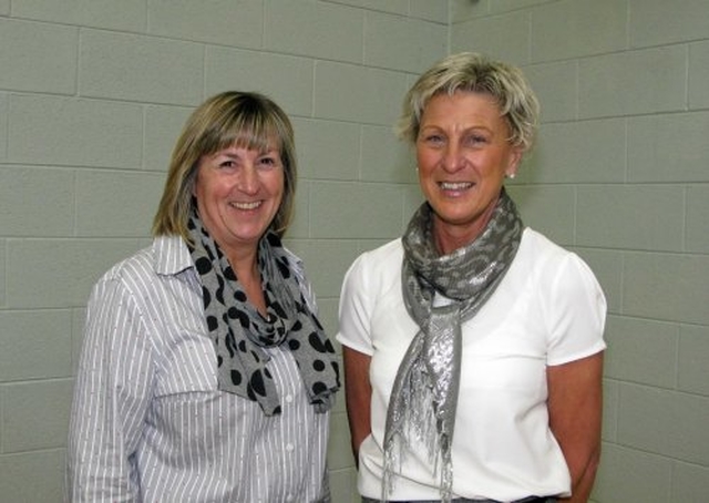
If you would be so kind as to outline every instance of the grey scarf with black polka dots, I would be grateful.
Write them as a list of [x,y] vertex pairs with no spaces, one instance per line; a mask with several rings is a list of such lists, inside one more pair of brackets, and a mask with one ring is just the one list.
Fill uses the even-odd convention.
[[258,248],[267,306],[264,317],[247,301],[229,261],[196,209],[188,229],[207,328],[217,353],[219,390],[258,402],[266,415],[279,414],[280,399],[263,348],[281,346],[292,352],[310,403],[317,412],[328,411],[340,386],[335,348],[308,307],[278,236],[267,232]]

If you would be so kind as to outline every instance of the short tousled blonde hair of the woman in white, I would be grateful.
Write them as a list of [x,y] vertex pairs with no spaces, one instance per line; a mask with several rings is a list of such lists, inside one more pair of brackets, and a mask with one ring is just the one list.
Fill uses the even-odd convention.
[[429,100],[456,91],[489,94],[510,126],[510,143],[528,151],[534,143],[540,104],[518,68],[474,52],[451,54],[424,72],[407,93],[398,134],[415,143]]

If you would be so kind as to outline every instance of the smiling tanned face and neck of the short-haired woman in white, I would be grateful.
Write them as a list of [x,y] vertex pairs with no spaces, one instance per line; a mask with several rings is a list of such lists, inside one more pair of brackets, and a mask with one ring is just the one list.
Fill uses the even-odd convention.
[[421,115],[415,141],[419,183],[433,208],[433,235],[443,254],[472,243],[485,228],[505,175],[522,148],[487,94],[436,94]]

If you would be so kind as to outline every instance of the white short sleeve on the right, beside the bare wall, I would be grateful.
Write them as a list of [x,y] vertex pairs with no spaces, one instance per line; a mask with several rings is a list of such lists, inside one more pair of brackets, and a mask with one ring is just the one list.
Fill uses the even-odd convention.
[[567,363],[606,348],[606,298],[590,268],[576,254],[567,254],[558,265],[548,299],[548,365]]

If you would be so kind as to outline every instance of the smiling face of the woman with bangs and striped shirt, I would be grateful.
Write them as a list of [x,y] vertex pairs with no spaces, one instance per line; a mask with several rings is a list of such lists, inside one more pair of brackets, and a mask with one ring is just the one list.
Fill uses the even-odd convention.
[[284,197],[284,166],[275,146],[232,145],[203,155],[194,195],[199,217],[232,259],[257,249]]

